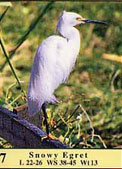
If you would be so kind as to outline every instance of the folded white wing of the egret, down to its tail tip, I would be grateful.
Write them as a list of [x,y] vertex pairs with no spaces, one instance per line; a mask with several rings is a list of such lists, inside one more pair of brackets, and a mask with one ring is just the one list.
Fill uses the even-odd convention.
[[51,36],[39,46],[28,89],[28,109],[35,115],[45,102],[54,102],[53,92],[67,77],[67,42],[62,37]]

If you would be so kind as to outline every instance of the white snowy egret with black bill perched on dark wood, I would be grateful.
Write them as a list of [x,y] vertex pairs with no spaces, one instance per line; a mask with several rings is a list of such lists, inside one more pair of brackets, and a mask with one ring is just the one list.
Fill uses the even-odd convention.
[[32,117],[42,109],[47,135],[46,104],[58,102],[54,90],[68,78],[80,50],[80,35],[75,26],[85,23],[106,24],[63,11],[56,28],[59,35],[44,40],[35,55],[27,95],[28,112]]

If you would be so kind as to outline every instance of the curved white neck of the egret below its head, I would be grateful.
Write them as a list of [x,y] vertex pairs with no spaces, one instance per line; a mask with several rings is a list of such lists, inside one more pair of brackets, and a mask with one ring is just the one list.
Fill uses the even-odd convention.
[[74,50],[75,55],[79,53],[80,49],[80,34],[79,31],[67,25],[62,25],[60,29],[58,29],[59,33],[67,39],[70,48]]

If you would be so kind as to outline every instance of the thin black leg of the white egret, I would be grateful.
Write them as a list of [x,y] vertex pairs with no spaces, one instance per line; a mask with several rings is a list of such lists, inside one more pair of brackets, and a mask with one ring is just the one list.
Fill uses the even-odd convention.
[[48,124],[48,121],[47,121],[48,116],[47,116],[45,104],[42,105],[42,111],[44,113],[44,124],[46,125],[46,133],[47,133],[47,135],[49,135],[49,124]]

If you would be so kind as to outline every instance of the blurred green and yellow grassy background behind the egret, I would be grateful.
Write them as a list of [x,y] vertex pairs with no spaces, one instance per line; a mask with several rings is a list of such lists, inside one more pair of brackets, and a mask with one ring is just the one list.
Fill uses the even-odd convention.
[[[0,7],[1,16],[6,8]],[[0,29],[17,78],[0,50],[0,105],[13,110],[26,104],[36,50],[54,34],[64,9],[108,25],[77,26],[80,54],[68,81],[55,92],[60,103],[47,109],[51,134],[73,148],[121,148],[122,3],[12,2]],[[34,124],[40,127],[37,119]],[[12,145],[0,138],[0,146]]]

